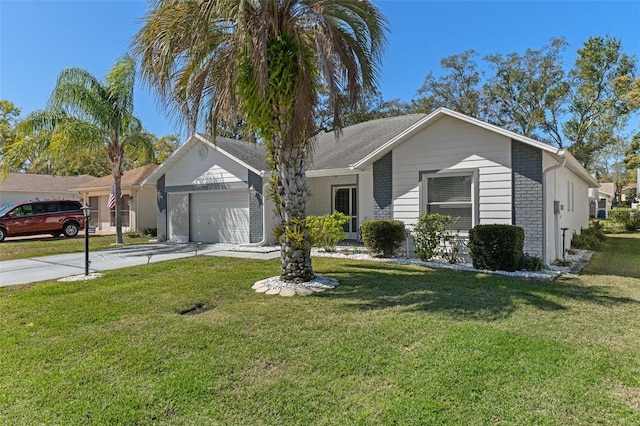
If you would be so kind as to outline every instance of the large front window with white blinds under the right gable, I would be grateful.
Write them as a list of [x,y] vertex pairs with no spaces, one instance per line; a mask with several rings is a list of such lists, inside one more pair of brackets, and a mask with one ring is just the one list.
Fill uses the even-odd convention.
[[431,175],[426,179],[426,212],[459,218],[457,229],[473,227],[473,176]]

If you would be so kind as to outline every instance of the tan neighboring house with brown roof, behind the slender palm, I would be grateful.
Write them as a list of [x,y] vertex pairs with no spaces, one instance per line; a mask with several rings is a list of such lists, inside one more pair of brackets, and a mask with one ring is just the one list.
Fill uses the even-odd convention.
[[[158,167],[148,164],[124,172],[120,189],[122,192],[122,229],[124,231],[142,231],[156,227],[156,191],[144,188],[142,181]],[[109,194],[113,190],[113,176],[94,178],[74,188],[79,191],[85,202],[91,207],[89,224],[98,231],[115,231],[115,208],[109,208]]]

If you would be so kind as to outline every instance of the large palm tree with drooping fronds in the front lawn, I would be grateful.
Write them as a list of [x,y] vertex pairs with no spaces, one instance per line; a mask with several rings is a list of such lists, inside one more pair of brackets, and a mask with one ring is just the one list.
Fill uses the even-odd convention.
[[135,36],[145,80],[190,131],[244,119],[268,152],[281,278],[313,278],[305,224],[318,91],[375,88],[387,22],[368,0],[156,0]]

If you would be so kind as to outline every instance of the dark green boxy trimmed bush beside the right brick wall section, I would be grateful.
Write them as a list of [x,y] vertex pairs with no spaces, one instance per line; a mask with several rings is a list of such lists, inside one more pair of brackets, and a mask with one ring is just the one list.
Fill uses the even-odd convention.
[[477,225],[469,231],[473,266],[515,271],[522,264],[524,229],[514,225]]

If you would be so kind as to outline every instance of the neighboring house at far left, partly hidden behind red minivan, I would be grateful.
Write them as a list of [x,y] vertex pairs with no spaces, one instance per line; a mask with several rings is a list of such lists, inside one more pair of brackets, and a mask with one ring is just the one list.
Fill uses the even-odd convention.
[[0,206],[21,201],[79,200],[75,186],[95,179],[94,176],[51,176],[32,173],[9,173],[0,182]]

